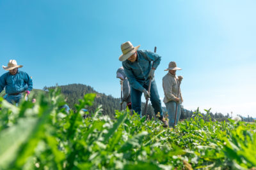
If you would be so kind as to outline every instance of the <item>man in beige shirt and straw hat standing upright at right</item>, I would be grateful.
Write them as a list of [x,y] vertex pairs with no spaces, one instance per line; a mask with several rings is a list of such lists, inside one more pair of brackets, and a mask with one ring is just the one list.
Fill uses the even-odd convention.
[[163,89],[164,104],[168,111],[169,127],[174,127],[176,106],[178,107],[176,122],[179,121],[181,113],[180,104],[183,102],[180,92],[178,97],[179,85],[182,80],[182,76],[176,76],[177,70],[180,70],[180,68],[177,67],[174,61],[169,63],[169,67],[167,69],[164,69],[164,71],[168,71],[168,73],[163,77]]

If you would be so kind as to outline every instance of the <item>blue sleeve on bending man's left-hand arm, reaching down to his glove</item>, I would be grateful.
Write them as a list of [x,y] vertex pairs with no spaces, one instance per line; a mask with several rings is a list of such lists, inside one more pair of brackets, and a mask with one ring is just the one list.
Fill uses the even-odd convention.
[[140,90],[143,92],[144,87],[136,80],[136,77],[132,73],[132,69],[125,66],[124,62],[122,62],[122,65],[124,67],[125,74],[129,80],[129,83],[133,89]]

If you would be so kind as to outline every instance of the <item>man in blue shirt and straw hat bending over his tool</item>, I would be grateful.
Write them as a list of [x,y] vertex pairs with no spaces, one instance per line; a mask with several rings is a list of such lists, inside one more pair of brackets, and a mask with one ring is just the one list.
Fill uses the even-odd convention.
[[[156,53],[138,50],[138,48],[140,48],[140,45],[134,47],[130,41],[127,41],[121,45],[123,54],[119,57],[131,85],[132,110],[141,116],[141,95],[143,93],[146,99],[150,97],[155,114],[160,113],[159,120],[166,126],[167,122],[163,117],[161,101],[157,92],[156,81],[154,81],[154,71],[160,64],[161,57]],[[153,66],[151,61],[154,61]],[[148,93],[147,89],[150,79],[152,83],[150,93]]]

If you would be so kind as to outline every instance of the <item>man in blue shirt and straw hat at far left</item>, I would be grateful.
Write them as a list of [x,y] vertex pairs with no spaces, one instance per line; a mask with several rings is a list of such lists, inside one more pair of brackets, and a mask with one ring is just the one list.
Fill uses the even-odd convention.
[[8,71],[0,77],[0,92],[5,87],[7,96],[6,101],[9,103],[19,103],[22,98],[22,92],[29,94],[33,89],[33,83],[29,75],[23,71],[19,71],[16,60],[10,60],[8,66],[3,66],[3,69]]

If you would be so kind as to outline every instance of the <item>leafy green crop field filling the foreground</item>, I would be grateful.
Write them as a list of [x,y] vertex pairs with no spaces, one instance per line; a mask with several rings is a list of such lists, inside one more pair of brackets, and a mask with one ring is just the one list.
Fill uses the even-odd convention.
[[112,120],[98,108],[83,119],[95,94],[60,109],[59,90],[17,108],[0,98],[0,169],[255,169],[256,125],[203,120],[199,111],[163,128],[129,111]]

